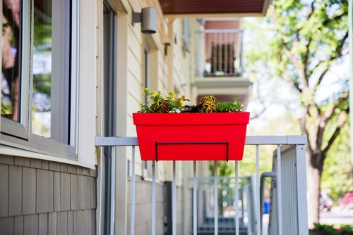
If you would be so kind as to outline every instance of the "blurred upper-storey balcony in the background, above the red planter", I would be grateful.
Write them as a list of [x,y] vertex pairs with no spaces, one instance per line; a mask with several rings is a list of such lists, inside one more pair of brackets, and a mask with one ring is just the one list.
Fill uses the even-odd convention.
[[[251,82],[243,77],[243,30],[239,29],[239,20],[204,24],[206,29],[195,34],[193,85],[198,96],[213,95],[225,101],[237,96],[246,105]],[[228,29],[219,29],[223,25]]]

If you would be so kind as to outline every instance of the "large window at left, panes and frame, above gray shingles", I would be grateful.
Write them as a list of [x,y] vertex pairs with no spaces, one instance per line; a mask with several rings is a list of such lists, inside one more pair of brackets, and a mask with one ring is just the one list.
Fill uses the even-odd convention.
[[1,143],[76,158],[73,1],[3,1]]

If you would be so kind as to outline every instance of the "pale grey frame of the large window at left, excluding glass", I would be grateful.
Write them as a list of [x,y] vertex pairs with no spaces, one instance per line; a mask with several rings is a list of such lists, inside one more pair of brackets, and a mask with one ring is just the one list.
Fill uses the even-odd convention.
[[[21,1],[21,0],[20,0]],[[64,45],[69,47],[68,55],[68,96],[65,98],[68,101],[68,139],[64,141],[56,141],[54,139],[45,138],[37,134],[32,134],[32,91],[33,91],[33,35],[34,35],[34,0],[21,1],[22,9],[22,28],[20,37],[21,57],[20,57],[20,122],[14,122],[1,117],[1,136],[0,144],[13,146],[23,150],[34,151],[46,155],[53,155],[59,158],[70,160],[78,160],[78,75],[79,75],[79,56],[78,56],[78,40],[79,40],[79,0],[71,1],[70,12],[65,11],[65,14],[71,15],[68,23],[64,27],[59,27],[65,30],[69,35],[65,35]],[[27,10],[27,11],[25,11]],[[54,21],[53,21],[54,22]],[[1,26],[2,27],[2,26]],[[69,29],[67,29],[69,27]],[[53,30],[54,31],[54,30]],[[68,41],[66,41],[68,40]],[[63,42],[60,42],[62,45]],[[62,56],[62,55],[61,55]],[[54,58],[54,56],[53,56]],[[54,60],[58,60],[55,58]],[[60,57],[59,60],[65,61]],[[59,74],[65,72],[60,71]],[[58,75],[54,75],[58,76]],[[63,83],[63,82],[59,82]],[[61,87],[63,84],[59,84]],[[56,97],[58,95],[56,94]],[[55,96],[52,97],[55,99]],[[54,101],[59,103],[59,108],[66,105],[61,99]],[[60,103],[61,102],[61,103]],[[52,127],[51,127],[52,129]]]

